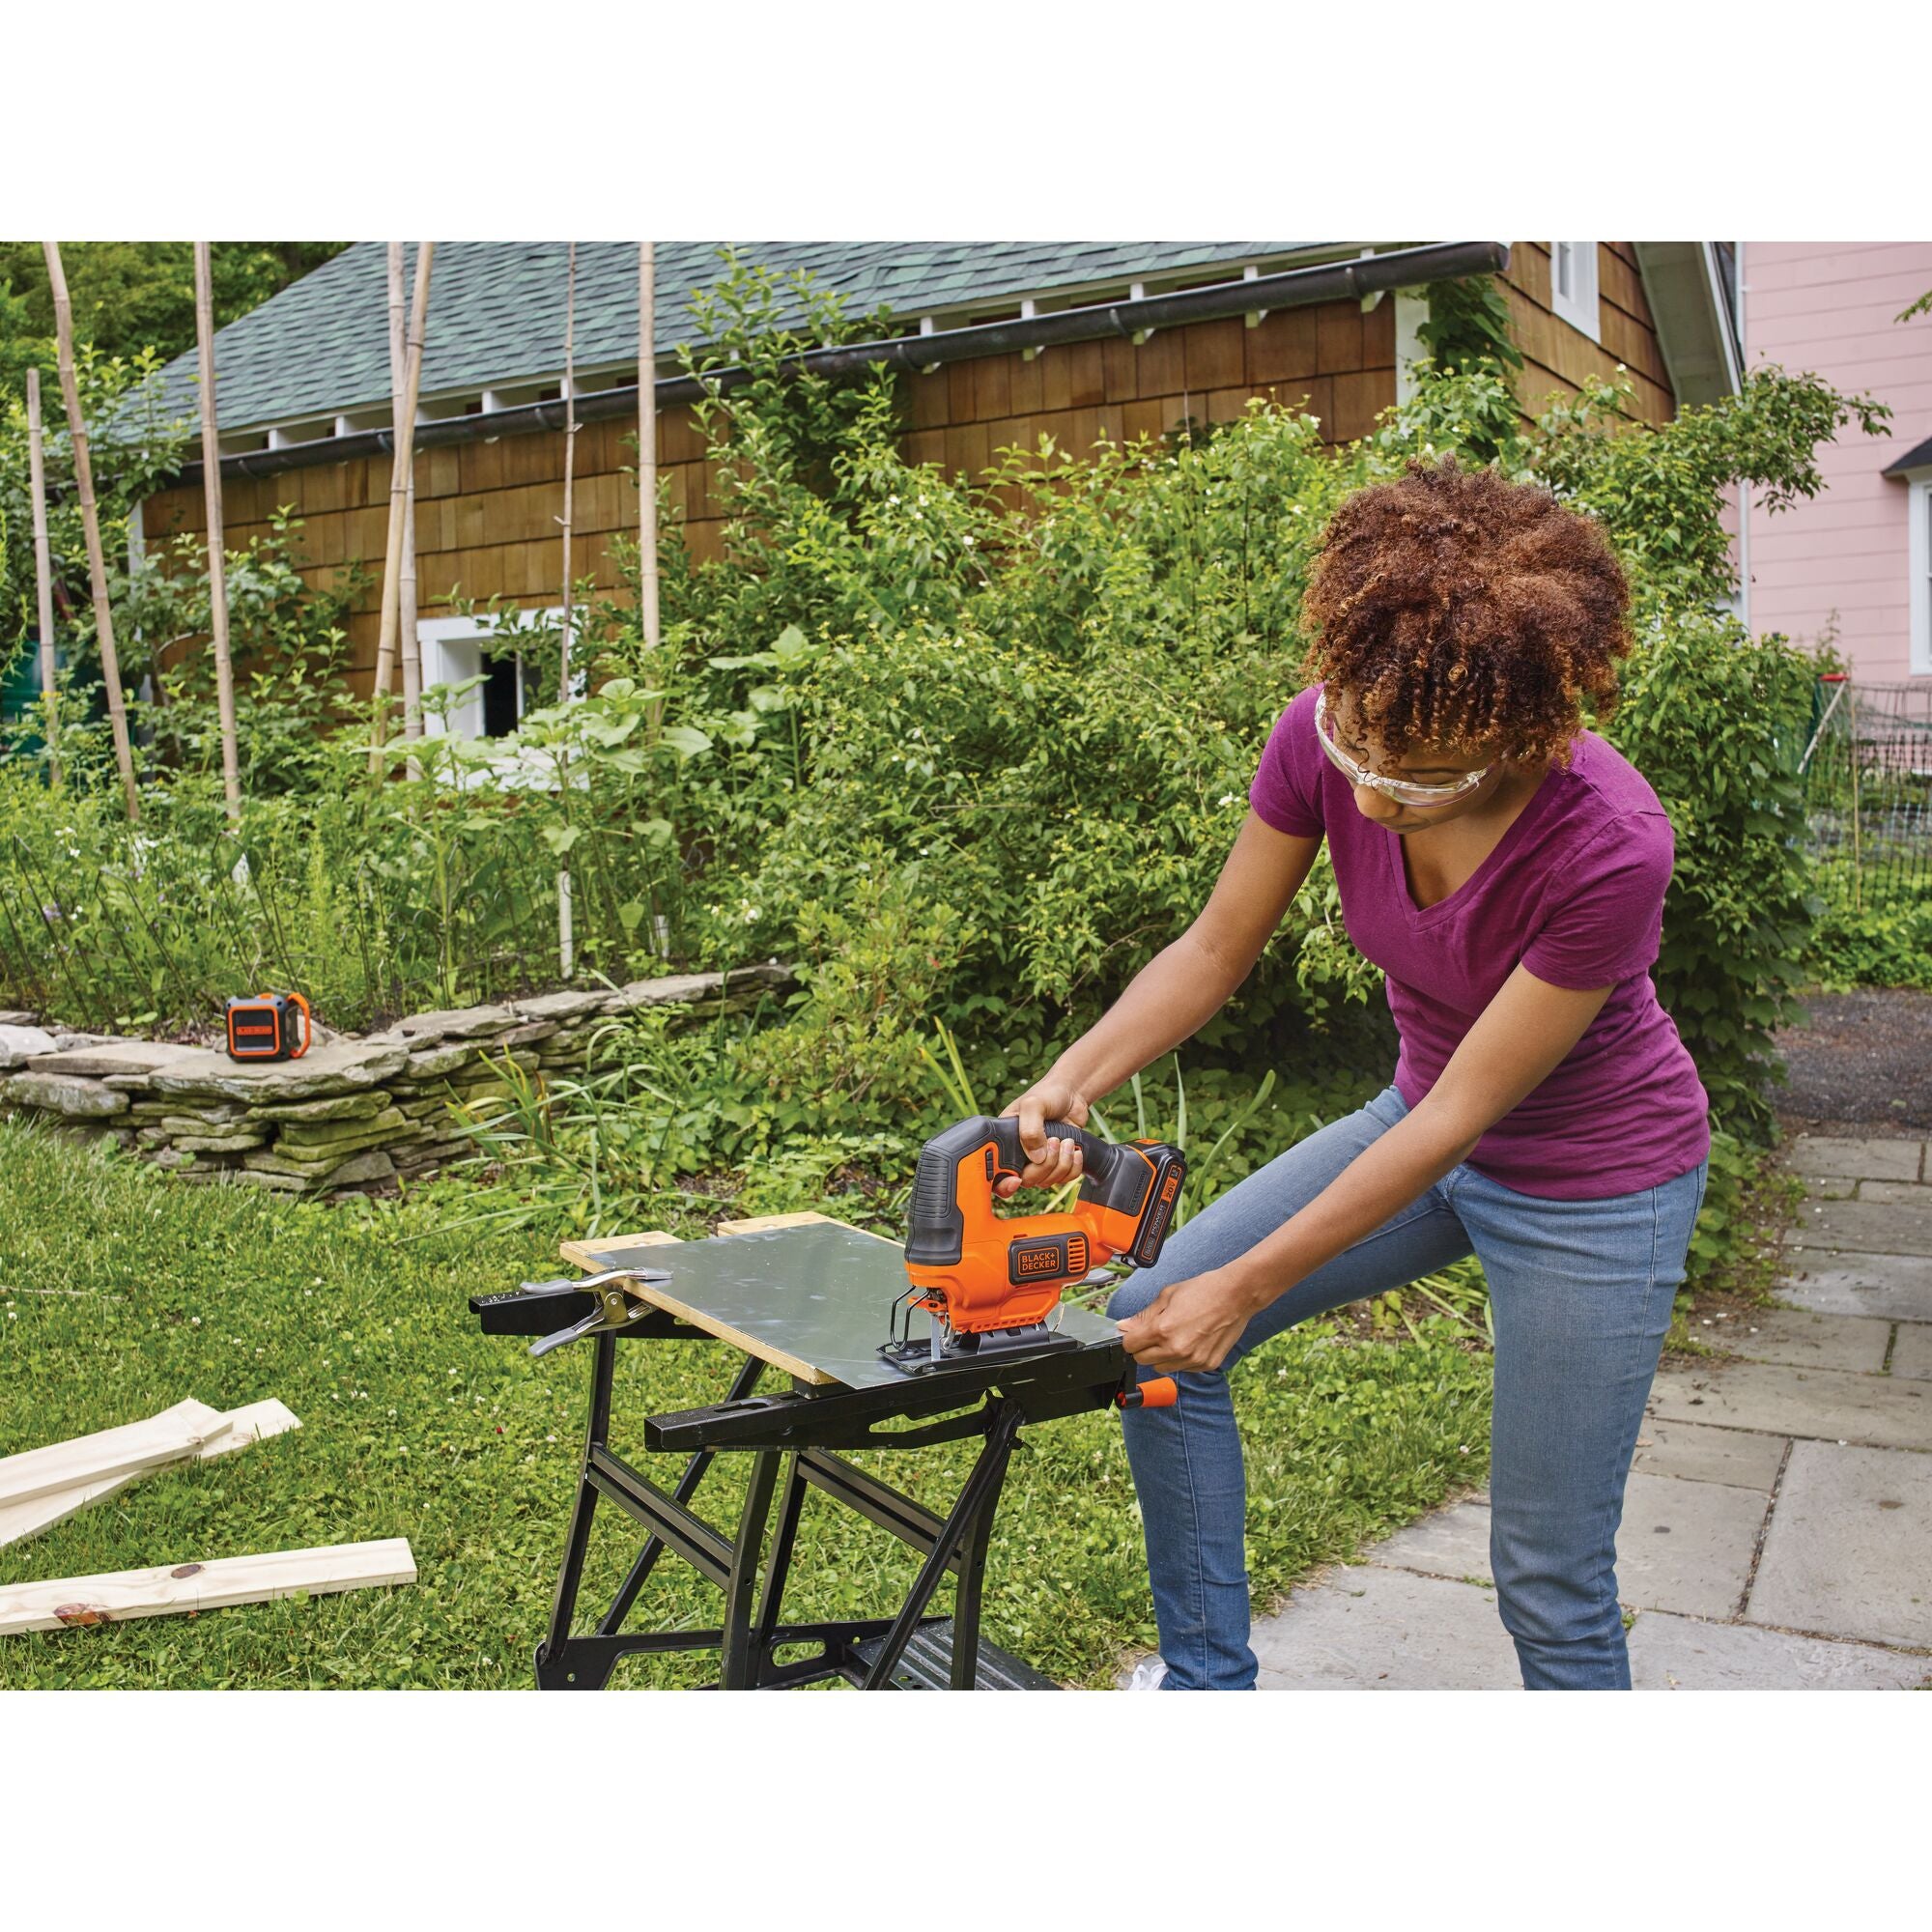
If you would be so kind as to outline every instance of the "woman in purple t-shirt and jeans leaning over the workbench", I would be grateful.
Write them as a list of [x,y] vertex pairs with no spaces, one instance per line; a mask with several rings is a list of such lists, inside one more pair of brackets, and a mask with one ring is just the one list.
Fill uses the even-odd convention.
[[[1208,906],[1009,1107],[1047,1119],[1188,1039],[1242,983],[1323,837],[1387,976],[1395,1080],[1269,1161],[1132,1277],[1111,1314],[1173,1408],[1128,1410],[1161,1663],[1252,1689],[1244,1484],[1227,1372],[1258,1343],[1476,1254],[1495,1321],[1490,1555],[1528,1689],[1629,1689],[1623,1482],[1710,1130],[1658,1005],[1671,827],[1582,705],[1615,701],[1629,591],[1602,531],[1453,462],[1350,497],[1306,599],[1310,684],[1281,715]],[[1165,1677],[1161,1677],[1165,1665]]]

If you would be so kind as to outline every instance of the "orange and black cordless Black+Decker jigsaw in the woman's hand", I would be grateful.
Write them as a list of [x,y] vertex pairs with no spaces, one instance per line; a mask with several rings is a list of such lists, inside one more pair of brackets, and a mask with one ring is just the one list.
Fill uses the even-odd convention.
[[[1080,1144],[1086,1175],[1072,1213],[995,1211],[993,1182],[1026,1167],[1016,1119],[976,1115],[925,1142],[906,1229],[912,1287],[895,1304],[893,1339],[879,1349],[908,1376],[1061,1347],[1049,1325],[1061,1289],[1117,1258],[1134,1267],[1159,1260],[1186,1175],[1180,1150],[1101,1140],[1066,1121],[1047,1121],[1045,1132]],[[910,1333],[914,1308],[931,1314],[925,1341]]]

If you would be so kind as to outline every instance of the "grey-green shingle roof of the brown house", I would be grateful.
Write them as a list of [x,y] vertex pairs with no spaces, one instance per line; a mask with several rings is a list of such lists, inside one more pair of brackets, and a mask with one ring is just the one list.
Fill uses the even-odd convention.
[[[690,298],[723,272],[721,242],[657,247],[657,350],[694,340]],[[1057,288],[1173,278],[1279,261],[1314,242],[736,242],[740,261],[808,270],[866,315],[910,319]],[[413,276],[415,247],[410,245]],[[502,388],[564,361],[564,242],[439,242],[423,394]],[[638,354],[638,243],[578,243],[576,355],[595,369]],[[193,415],[195,355],[164,371],[164,406]],[[388,245],[357,242],[214,338],[220,425],[299,423],[388,402]]]

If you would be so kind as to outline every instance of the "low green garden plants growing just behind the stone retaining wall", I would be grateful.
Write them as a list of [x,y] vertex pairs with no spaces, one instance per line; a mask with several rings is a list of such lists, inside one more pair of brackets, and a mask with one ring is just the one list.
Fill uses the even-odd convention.
[[[421,744],[425,761],[450,750]],[[628,823],[576,792],[371,786],[352,740],[325,752],[327,782],[249,798],[234,831],[211,775],[155,786],[131,829],[116,792],[50,798],[0,769],[0,1005],[209,1032],[230,993],[294,987],[350,1030],[554,985],[572,835],[580,956],[612,980],[651,968],[651,927],[626,908],[670,862]]]

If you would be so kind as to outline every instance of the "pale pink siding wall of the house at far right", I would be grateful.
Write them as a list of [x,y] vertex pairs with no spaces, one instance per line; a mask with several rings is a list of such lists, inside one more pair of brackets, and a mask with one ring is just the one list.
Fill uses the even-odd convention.
[[1750,508],[1750,628],[1837,647],[1872,680],[1911,672],[1907,489],[1884,475],[1932,435],[1932,315],[1893,317],[1932,290],[1932,242],[1748,242],[1745,361],[1810,369],[1891,406],[1891,435],[1857,427],[1818,452],[1826,489],[1776,516]]

